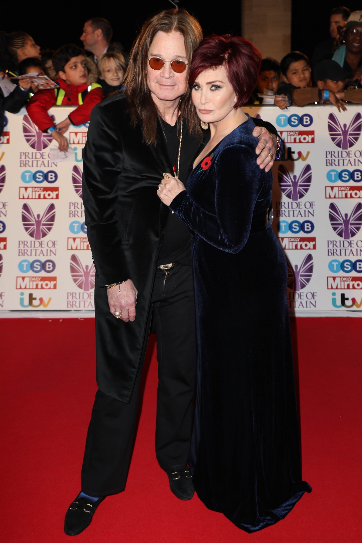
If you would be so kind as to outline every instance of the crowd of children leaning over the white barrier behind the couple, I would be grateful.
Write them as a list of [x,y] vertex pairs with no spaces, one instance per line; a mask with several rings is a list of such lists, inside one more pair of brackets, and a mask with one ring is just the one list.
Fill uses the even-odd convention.
[[[4,40],[6,36],[0,34],[0,41]],[[75,45],[60,47],[55,52],[46,50],[40,55],[40,48],[31,36],[23,32],[12,34],[12,42],[9,41],[7,47],[9,51],[11,47],[14,49],[12,59],[15,60],[11,69],[7,69],[8,77],[47,76],[56,84],[55,88],[44,89],[31,83],[30,79],[22,79],[22,90],[31,91],[30,98],[27,93],[17,93],[21,94],[18,102],[23,105],[28,100],[31,120],[40,130],[52,135],[59,150],[66,151],[68,140],[64,134],[68,127],[88,122],[94,105],[112,92],[123,89],[124,56],[107,51],[96,65]],[[348,17],[345,27],[339,29],[339,39],[340,47],[333,59],[320,61],[313,72],[308,57],[299,51],[288,53],[280,63],[264,58],[249,104],[274,104],[286,109],[290,105],[330,103],[339,111],[345,111],[346,102],[362,103],[362,11],[354,11]],[[348,64],[350,59],[357,64]],[[77,108],[55,124],[48,114],[54,105],[76,105]]]

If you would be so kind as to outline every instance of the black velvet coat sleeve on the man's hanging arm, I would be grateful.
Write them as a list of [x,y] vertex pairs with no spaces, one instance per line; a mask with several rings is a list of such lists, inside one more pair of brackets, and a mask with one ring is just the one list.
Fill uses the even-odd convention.
[[101,285],[130,278],[116,218],[122,138],[103,108],[94,108],[83,157],[82,190],[87,236]]

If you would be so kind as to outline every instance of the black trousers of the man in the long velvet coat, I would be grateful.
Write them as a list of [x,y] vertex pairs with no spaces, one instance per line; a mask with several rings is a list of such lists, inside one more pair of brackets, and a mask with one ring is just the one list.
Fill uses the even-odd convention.
[[[177,264],[166,279],[164,271],[156,270],[148,331],[151,322],[157,334],[156,457],[166,471],[182,469],[188,462],[194,381],[191,266]],[[116,494],[125,488],[146,349],[147,342],[129,403],[100,390],[96,393],[81,471],[82,491],[90,496]]]

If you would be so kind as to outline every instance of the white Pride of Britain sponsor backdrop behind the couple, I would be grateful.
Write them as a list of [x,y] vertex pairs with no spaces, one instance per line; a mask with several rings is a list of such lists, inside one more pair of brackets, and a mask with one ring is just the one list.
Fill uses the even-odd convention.
[[[300,314],[362,312],[362,116],[333,106],[245,108],[274,124],[274,229],[288,260],[288,301]],[[53,108],[56,122],[71,108]],[[67,161],[25,110],[0,138],[0,309],[93,310],[94,266],[81,200],[87,124],[71,127]],[[251,263],[252,265],[252,263]],[[351,313],[353,312],[353,313]]]

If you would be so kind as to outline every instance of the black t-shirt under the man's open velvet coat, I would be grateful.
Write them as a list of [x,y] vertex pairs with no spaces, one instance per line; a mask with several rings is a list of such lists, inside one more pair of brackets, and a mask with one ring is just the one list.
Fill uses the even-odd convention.
[[[172,127],[170,124],[162,121],[163,137],[165,138],[167,153],[170,161],[169,173],[173,173],[173,167],[176,167],[180,147],[180,120]],[[206,141],[208,138],[206,138]],[[205,141],[205,143],[206,143]],[[205,144],[204,143],[204,144]],[[182,142],[180,153],[179,179],[187,185],[187,178],[192,171],[193,161],[201,152],[200,142],[195,136],[189,134],[185,119],[183,119]],[[190,230],[179,217],[172,211],[169,211],[166,230],[157,258],[157,266],[160,264],[169,264],[171,262],[180,262],[189,264],[191,262],[190,253]]]

